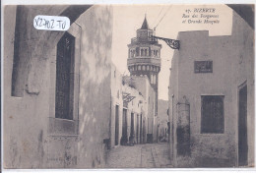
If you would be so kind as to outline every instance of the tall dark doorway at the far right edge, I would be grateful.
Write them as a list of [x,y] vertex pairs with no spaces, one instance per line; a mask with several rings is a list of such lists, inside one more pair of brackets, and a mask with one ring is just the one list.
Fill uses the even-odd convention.
[[246,85],[239,88],[238,96],[238,166],[246,166],[248,165]]

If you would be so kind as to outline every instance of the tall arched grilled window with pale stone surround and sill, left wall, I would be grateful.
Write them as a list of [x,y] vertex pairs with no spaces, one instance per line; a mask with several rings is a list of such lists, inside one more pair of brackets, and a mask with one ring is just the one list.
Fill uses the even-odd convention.
[[[63,33],[61,38],[58,36],[56,37],[59,39],[55,46],[56,56],[49,57],[50,61],[56,61],[56,63],[50,66],[50,74],[52,78],[50,78],[51,85],[49,87],[50,93],[53,94],[49,95],[49,104],[55,105],[53,109],[49,110],[48,135],[50,136],[77,136],[79,134],[80,77],[78,74],[80,72],[80,63],[78,62],[81,62],[81,55],[75,52],[80,52],[81,37],[81,28],[76,24],[72,25],[69,31]],[[68,38],[69,42],[66,42],[67,44],[64,43],[66,38]],[[68,64],[69,58],[70,63]],[[66,70],[61,68],[63,65],[66,66],[64,68]],[[60,68],[57,68],[57,66]],[[67,83],[68,79],[69,83]],[[65,85],[63,84],[64,82],[59,82],[61,80],[65,81]],[[69,90],[64,89],[68,87]],[[62,94],[63,92],[65,95]],[[66,99],[68,97],[69,99]],[[64,103],[69,103],[69,105],[64,107]],[[69,112],[63,113],[64,109],[69,110]]]

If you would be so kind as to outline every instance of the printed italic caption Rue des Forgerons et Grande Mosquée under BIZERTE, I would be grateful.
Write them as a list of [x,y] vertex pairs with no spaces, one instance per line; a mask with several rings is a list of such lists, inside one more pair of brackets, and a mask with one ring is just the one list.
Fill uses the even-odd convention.
[[182,14],[182,24],[219,24],[219,15],[215,8],[186,9]]

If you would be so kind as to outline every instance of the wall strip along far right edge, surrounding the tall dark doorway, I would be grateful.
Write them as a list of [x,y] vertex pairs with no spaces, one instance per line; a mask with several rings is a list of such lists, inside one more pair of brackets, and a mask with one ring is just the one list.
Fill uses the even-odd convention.
[[[248,137],[248,165],[254,166],[254,137],[255,137],[255,100],[254,100],[254,30],[251,29],[246,22],[241,20],[241,18],[234,12],[233,13],[233,31],[232,31],[232,46],[234,56],[236,58],[235,62],[235,86],[233,86],[233,92],[236,96],[235,104],[238,104],[238,87],[240,87],[244,82],[247,85],[247,137]],[[236,108],[236,115],[238,114],[238,109]],[[236,117],[236,120],[238,118]],[[236,127],[238,125],[235,125]],[[236,130],[236,137],[237,137]],[[236,139],[237,142],[237,139]],[[236,144],[236,150],[237,148]]]

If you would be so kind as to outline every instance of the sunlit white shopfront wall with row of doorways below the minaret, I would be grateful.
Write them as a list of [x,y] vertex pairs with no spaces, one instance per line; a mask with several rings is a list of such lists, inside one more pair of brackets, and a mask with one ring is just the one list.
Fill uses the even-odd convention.
[[[123,93],[129,93],[130,96],[135,96],[127,106],[123,105]],[[123,81],[123,76],[117,71],[116,67],[112,65],[112,75],[111,75],[111,147],[115,146],[115,106],[119,107],[119,135],[118,144],[121,144],[122,138],[122,124],[123,124],[123,109],[127,110],[127,137],[128,141],[131,137],[131,114],[134,114],[134,140],[135,144],[140,144],[140,122],[137,122],[137,116],[142,115],[142,119],[147,122],[148,112],[146,110],[147,103],[141,92],[135,88],[131,87]],[[138,134],[139,138],[137,141],[137,123],[139,123]],[[147,124],[146,124],[147,125]],[[147,127],[145,128],[147,129]],[[143,140],[143,138],[142,138]],[[146,139],[145,139],[146,141]]]

